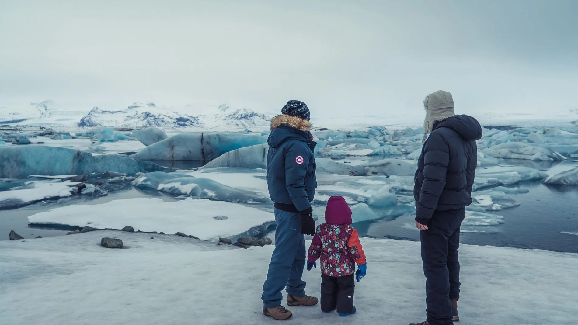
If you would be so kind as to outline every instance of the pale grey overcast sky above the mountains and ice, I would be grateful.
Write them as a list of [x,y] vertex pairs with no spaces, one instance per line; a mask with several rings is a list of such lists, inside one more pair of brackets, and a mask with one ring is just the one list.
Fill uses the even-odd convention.
[[0,107],[421,115],[439,89],[458,113],[577,108],[578,1],[0,1]]

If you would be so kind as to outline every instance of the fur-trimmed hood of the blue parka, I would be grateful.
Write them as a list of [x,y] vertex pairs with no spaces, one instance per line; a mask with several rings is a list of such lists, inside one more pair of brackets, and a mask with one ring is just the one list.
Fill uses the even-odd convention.
[[271,121],[271,133],[267,143],[275,148],[290,139],[307,142],[312,139],[309,130],[311,130],[311,123],[305,119],[290,115],[277,115]]

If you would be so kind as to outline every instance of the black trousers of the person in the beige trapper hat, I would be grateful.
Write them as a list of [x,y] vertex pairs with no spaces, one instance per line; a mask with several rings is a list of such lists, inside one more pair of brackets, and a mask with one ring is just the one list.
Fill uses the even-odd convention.
[[460,298],[460,226],[465,208],[435,211],[428,230],[421,231],[427,319],[431,325],[452,325],[451,299]]

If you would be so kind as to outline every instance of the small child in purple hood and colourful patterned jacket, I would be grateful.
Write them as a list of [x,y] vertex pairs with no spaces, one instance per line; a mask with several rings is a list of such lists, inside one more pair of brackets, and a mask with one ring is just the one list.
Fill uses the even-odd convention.
[[365,276],[365,253],[357,230],[351,227],[351,209],[341,196],[332,196],[325,209],[325,223],[317,227],[307,255],[307,270],[321,257],[321,311],[337,309],[339,316],[353,315],[355,263],[357,282]]

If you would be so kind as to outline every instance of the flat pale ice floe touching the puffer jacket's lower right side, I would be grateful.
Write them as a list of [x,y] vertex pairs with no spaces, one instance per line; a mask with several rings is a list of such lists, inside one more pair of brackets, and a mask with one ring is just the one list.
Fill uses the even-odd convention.
[[476,173],[473,190],[502,185],[513,185],[523,181],[541,181],[548,177],[543,171],[528,167],[514,167],[503,171]]

